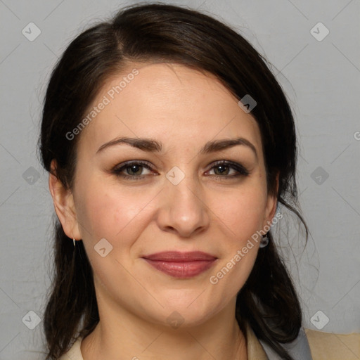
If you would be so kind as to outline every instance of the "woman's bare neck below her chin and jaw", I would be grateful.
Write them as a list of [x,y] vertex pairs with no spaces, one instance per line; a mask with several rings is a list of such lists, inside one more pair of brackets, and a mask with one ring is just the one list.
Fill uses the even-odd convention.
[[139,319],[108,304],[100,321],[82,340],[84,360],[248,360],[245,336],[235,319],[235,301],[197,326],[172,328]]

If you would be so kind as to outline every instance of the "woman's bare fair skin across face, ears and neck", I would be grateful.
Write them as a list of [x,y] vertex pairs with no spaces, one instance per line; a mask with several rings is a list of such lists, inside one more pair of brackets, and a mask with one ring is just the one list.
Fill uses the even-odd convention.
[[[82,356],[248,359],[235,318],[236,294],[250,275],[259,243],[216,285],[210,276],[276,212],[276,195],[267,192],[259,127],[214,76],[178,64],[131,63],[128,72],[105,83],[91,106],[134,68],[139,75],[77,135],[72,191],[49,177],[63,229],[69,238],[82,239],[94,270],[100,322],[82,341]],[[119,136],[153,139],[162,150],[118,143],[98,151]],[[207,141],[236,137],[252,143],[256,154],[247,145],[200,152]],[[113,171],[130,160],[150,169]],[[249,174],[214,165],[218,160],[236,162]],[[166,176],[173,167],[184,174],[177,185]],[[102,238],[113,246],[105,257],[94,250]],[[200,250],[217,260],[193,278],[174,278],[142,258],[169,250]],[[174,328],[169,319],[176,316],[183,322]]]

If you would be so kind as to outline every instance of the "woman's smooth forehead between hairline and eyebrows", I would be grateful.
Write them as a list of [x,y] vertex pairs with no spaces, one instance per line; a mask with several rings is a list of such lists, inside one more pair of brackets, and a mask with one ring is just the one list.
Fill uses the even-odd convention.
[[117,136],[150,137],[173,149],[242,136],[262,148],[257,122],[236,97],[214,75],[184,65],[130,64],[105,82],[86,115],[81,153]]

